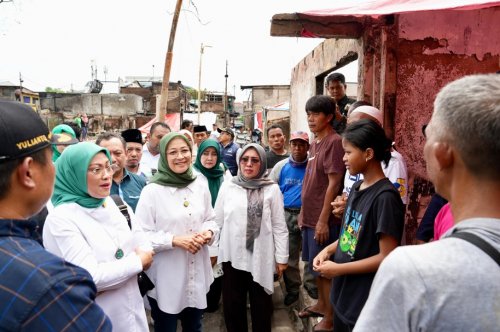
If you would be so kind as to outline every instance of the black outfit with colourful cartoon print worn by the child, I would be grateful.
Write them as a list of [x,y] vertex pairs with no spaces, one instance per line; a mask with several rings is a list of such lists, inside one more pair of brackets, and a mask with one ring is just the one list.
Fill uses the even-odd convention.
[[[346,204],[335,252],[335,263],[347,263],[374,256],[380,252],[381,233],[401,241],[404,205],[394,185],[384,178],[359,190],[363,180],[352,186]],[[375,273],[335,277],[331,291],[335,314],[354,325],[368,299]]]

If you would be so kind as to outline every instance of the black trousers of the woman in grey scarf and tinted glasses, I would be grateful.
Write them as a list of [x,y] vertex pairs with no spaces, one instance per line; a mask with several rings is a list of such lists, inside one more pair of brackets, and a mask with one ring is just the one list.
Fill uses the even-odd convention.
[[222,303],[227,332],[248,331],[247,293],[250,297],[252,331],[271,332],[272,295],[254,282],[249,272],[237,270],[229,262],[223,263],[222,268]]

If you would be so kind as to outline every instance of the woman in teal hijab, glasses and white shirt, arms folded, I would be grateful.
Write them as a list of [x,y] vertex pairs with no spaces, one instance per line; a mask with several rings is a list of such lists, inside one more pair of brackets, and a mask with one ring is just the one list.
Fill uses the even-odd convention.
[[[113,331],[148,331],[137,274],[153,260],[140,226],[132,230],[109,197],[113,170],[108,150],[90,142],[68,147],[56,163],[52,203],[43,229],[45,248],[86,269],[96,302]],[[129,214],[133,216],[129,209]]]

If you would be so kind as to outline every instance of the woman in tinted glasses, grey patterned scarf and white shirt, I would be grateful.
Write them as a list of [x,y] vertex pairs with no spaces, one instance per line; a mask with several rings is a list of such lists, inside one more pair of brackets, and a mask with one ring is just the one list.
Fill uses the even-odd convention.
[[288,262],[283,196],[265,177],[266,153],[260,145],[245,145],[237,161],[238,175],[222,184],[215,203],[224,320],[228,332],[248,330],[249,293],[252,330],[270,332],[274,273],[281,276]]

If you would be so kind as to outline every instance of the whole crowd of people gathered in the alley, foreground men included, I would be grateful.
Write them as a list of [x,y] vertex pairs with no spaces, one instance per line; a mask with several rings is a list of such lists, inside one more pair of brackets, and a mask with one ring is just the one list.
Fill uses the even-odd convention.
[[309,133],[272,125],[267,147],[191,121],[80,142],[0,102],[0,330],[148,331],[147,308],[155,331],[202,331],[222,306],[241,332],[249,304],[270,332],[281,277],[285,305],[301,287],[317,299],[298,312],[322,317],[314,331],[498,328],[499,75],[438,94],[423,132],[434,241],[401,248],[405,162],[383,112],[345,88],[328,76]]

